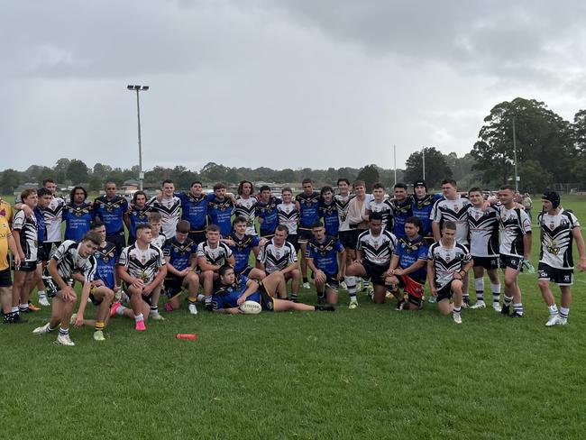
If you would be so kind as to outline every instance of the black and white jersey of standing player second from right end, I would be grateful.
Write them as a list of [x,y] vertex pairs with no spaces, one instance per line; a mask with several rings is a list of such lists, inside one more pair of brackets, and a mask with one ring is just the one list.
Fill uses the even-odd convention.
[[495,206],[499,213],[500,248],[503,255],[512,255],[523,258],[525,244],[523,237],[531,234],[531,220],[520,208],[507,209],[505,206]]

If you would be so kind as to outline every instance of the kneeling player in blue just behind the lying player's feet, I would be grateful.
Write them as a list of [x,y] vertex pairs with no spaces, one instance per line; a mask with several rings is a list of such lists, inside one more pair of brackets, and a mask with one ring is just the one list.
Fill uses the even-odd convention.
[[[337,216],[337,212],[336,212]],[[325,234],[319,222],[311,229],[314,238],[307,243],[307,266],[314,274],[317,300],[327,304],[338,303],[338,286],[345,270],[346,254],[340,241]]]

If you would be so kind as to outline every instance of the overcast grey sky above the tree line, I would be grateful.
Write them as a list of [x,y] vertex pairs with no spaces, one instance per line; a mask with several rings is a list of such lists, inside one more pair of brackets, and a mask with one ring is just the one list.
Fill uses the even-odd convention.
[[583,1],[0,0],[0,170],[393,167],[490,108],[586,107]]

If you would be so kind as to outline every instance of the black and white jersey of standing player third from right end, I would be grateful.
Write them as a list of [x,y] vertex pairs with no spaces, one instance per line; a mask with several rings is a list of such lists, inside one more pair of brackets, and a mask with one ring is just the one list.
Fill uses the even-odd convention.
[[499,212],[492,206],[468,207],[470,253],[474,257],[499,256]]

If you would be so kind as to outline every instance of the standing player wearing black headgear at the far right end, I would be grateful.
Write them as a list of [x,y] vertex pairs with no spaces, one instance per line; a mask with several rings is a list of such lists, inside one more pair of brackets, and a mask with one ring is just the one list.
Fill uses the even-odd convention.
[[[541,199],[544,210],[537,215],[541,229],[541,253],[537,268],[539,289],[549,308],[546,326],[566,325],[572,302],[573,259],[572,241],[580,255],[578,270],[586,270],[586,252],[580,232],[580,222],[575,215],[560,206],[560,195],[547,191]],[[549,283],[554,282],[562,292],[561,307],[558,311]]]

